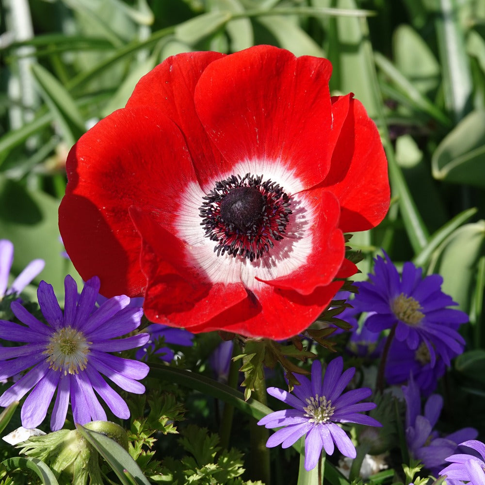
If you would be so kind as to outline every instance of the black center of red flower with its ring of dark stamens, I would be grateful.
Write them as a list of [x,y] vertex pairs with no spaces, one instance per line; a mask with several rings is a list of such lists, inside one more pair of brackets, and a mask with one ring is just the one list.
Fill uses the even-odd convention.
[[217,242],[217,256],[228,253],[253,261],[283,239],[291,198],[271,179],[231,175],[203,198],[201,226],[206,237]]

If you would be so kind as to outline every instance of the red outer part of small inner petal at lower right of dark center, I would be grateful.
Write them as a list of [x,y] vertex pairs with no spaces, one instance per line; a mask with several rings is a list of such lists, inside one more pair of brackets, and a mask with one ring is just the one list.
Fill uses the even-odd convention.
[[312,250],[304,264],[289,275],[272,280],[263,280],[269,285],[295,290],[303,295],[312,293],[318,286],[332,282],[340,269],[345,255],[345,241],[339,227],[340,207],[333,194],[320,189],[309,192],[311,198],[318,198],[310,231],[312,232]]

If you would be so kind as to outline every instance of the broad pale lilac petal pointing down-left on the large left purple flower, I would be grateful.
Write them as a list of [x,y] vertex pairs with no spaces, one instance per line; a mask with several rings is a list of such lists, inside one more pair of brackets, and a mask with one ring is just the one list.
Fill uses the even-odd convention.
[[47,372],[27,396],[20,412],[24,428],[36,428],[46,418],[60,375],[60,372]]

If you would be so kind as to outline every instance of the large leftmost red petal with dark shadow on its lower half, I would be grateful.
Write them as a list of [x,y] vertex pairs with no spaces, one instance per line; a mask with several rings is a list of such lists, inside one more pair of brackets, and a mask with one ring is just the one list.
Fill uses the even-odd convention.
[[105,296],[143,295],[140,236],[128,209],[173,217],[179,194],[196,181],[180,131],[154,110],[118,110],[73,146],[67,175],[59,228],[74,266],[84,280],[99,276]]

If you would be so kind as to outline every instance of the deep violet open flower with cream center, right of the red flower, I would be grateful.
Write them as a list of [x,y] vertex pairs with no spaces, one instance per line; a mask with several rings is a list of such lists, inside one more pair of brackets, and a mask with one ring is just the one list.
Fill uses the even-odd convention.
[[463,352],[465,340],[457,332],[468,315],[448,308],[457,305],[451,296],[441,291],[440,275],[422,277],[422,269],[406,262],[402,277],[384,252],[384,258],[374,260],[374,274],[369,282],[356,283],[358,294],[354,304],[362,311],[372,311],[366,326],[381,332],[395,325],[395,338],[405,341],[410,349],[424,342],[430,354],[431,366],[438,354],[446,365]]

